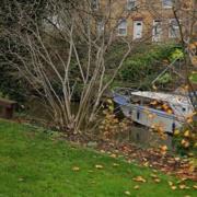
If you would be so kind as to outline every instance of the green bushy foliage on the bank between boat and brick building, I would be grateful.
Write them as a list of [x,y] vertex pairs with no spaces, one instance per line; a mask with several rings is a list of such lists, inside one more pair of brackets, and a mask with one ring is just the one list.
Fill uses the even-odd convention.
[[[119,72],[119,79],[130,82],[147,81],[147,84],[150,84],[151,79],[154,79],[163,69],[163,65],[171,62],[172,57],[178,55],[179,50],[173,45],[154,46],[152,49],[144,47],[142,51],[132,54],[127,58]],[[150,78],[151,76],[152,78]],[[166,81],[170,82],[169,77]]]

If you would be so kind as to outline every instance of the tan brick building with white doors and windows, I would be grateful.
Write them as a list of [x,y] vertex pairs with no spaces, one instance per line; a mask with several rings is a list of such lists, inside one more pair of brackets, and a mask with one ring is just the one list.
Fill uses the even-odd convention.
[[[113,26],[117,36],[134,40],[169,42],[179,37],[179,26],[185,34],[193,26],[195,0],[91,0],[97,14],[96,28],[101,33]],[[108,9],[109,8],[109,9]],[[111,11],[107,11],[111,10]],[[109,20],[106,22],[106,14]],[[175,16],[176,14],[176,16]],[[102,18],[105,15],[104,18]],[[177,20],[178,19],[178,20]]]

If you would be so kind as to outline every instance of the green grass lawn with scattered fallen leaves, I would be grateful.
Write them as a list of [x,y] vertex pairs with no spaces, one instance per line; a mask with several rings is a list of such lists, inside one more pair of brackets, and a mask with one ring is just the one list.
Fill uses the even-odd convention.
[[[95,169],[96,164],[104,167]],[[151,173],[151,169],[57,140],[54,132],[0,120],[0,197],[121,197],[126,190],[132,197],[197,195],[192,188],[172,190],[167,181],[177,179],[161,173],[157,184]],[[134,182],[138,175],[147,183]],[[135,190],[135,185],[140,188]]]

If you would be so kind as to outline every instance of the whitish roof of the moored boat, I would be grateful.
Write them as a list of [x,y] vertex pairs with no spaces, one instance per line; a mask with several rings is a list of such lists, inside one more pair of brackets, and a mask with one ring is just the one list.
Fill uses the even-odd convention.
[[131,95],[158,100],[158,101],[164,101],[164,102],[174,103],[174,104],[183,104],[183,105],[189,104],[190,105],[189,97],[185,96],[185,95],[160,93],[160,92],[150,92],[150,91],[131,92]]

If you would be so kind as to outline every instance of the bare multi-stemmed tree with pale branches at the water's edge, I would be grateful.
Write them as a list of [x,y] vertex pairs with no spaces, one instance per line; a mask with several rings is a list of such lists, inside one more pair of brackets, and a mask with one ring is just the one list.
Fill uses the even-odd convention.
[[[18,1],[15,3],[20,13],[19,26],[5,30],[4,35],[20,40],[18,47],[25,53],[19,53],[8,44],[8,54],[12,58],[4,56],[5,61],[16,68],[45,100],[54,123],[60,129],[79,132],[84,125],[96,119],[102,95],[131,51],[129,37],[115,38],[120,23],[117,19],[127,18],[129,13],[123,7],[115,19],[112,9],[117,1],[107,1],[99,9],[91,1],[49,0],[44,24],[40,26],[28,19],[33,24],[30,26],[23,23],[28,15],[24,14]],[[99,22],[102,26],[97,26]],[[117,39],[125,45],[123,56],[113,72],[108,72],[105,59]],[[78,73],[76,78],[73,70]],[[82,89],[79,107],[73,112],[77,83]]]

